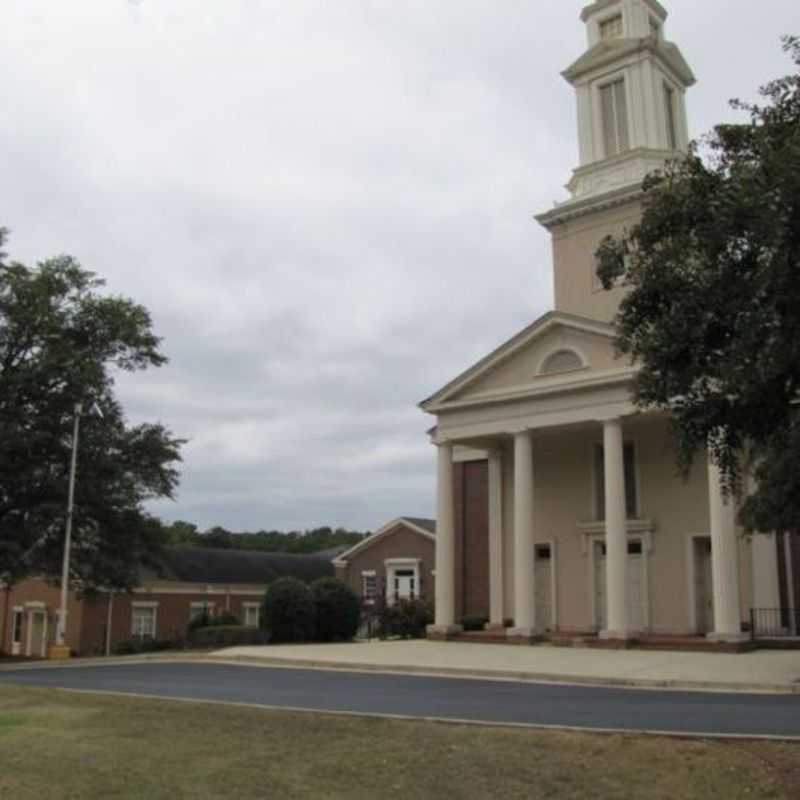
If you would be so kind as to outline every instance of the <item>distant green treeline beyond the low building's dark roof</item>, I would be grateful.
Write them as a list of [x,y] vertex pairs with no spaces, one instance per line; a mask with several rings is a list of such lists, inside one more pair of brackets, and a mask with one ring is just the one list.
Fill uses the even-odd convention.
[[164,525],[170,545],[196,545],[236,550],[263,550],[269,553],[316,553],[332,547],[350,547],[360,542],[369,531],[348,531],[345,528],[313,528],[307,531],[229,531],[215,525],[201,531],[191,522],[178,520]]

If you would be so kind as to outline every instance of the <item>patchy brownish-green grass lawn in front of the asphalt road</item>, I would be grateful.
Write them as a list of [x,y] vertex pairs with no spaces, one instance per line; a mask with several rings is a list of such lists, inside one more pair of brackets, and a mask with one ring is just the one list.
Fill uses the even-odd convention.
[[797,798],[800,747],[0,687],[0,798]]

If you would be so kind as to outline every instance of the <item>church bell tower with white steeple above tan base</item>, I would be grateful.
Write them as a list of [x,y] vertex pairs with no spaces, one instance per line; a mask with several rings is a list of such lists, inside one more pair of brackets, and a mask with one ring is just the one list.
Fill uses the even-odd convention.
[[686,150],[695,77],[658,0],[596,0],[581,20],[587,50],[562,73],[577,100],[579,163],[570,198],[537,219],[553,235],[556,310],[608,321],[620,291],[598,286],[594,252],[636,222],[644,177]]

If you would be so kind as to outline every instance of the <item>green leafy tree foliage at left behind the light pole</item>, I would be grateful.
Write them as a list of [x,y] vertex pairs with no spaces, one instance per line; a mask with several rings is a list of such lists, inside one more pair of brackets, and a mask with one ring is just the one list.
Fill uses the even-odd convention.
[[72,578],[129,588],[163,543],[144,503],[173,495],[181,441],[126,424],[114,373],[166,358],[147,310],[102,287],[69,256],[35,268],[0,256],[0,579],[60,574],[78,403]]

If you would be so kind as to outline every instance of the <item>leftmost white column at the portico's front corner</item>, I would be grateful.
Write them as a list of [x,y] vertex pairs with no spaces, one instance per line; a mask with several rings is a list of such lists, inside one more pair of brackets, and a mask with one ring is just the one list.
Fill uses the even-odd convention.
[[453,445],[439,444],[436,468],[436,607],[434,635],[455,633],[455,518],[453,508]]

